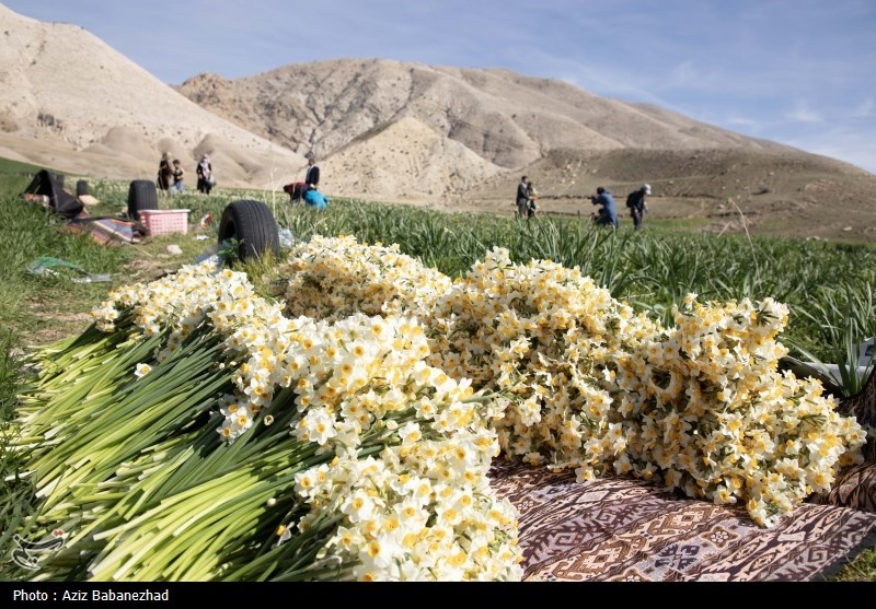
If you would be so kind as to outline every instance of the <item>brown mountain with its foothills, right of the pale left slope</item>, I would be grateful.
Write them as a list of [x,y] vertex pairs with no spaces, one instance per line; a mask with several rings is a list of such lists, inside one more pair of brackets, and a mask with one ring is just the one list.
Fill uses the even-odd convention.
[[[522,174],[541,209],[589,215],[606,186],[648,183],[655,218],[707,229],[876,239],[876,177],[653,105],[507,70],[332,60],[178,90],[211,112],[321,157],[335,195],[511,213]],[[442,145],[439,145],[443,142]]]

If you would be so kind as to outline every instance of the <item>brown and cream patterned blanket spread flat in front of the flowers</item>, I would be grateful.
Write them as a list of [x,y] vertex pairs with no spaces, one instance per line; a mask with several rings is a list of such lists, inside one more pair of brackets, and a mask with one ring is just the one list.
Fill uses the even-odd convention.
[[519,512],[527,581],[818,581],[876,543],[876,514],[839,505],[765,529],[744,507],[630,478],[496,461],[491,480]]

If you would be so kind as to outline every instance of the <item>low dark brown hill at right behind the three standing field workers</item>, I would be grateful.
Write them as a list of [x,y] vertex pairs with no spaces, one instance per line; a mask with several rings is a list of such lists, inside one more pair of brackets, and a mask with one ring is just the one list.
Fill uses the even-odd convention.
[[[548,212],[589,216],[587,197],[604,186],[630,223],[623,201],[647,183],[648,218],[699,219],[712,232],[876,242],[876,177],[795,151],[554,151],[521,173]],[[485,180],[458,206],[510,213],[515,184]]]

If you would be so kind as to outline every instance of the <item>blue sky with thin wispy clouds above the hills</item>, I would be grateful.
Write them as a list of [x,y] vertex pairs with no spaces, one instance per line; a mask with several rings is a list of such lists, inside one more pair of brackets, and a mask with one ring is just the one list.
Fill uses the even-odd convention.
[[876,0],[2,0],[160,80],[384,58],[507,68],[876,174]]

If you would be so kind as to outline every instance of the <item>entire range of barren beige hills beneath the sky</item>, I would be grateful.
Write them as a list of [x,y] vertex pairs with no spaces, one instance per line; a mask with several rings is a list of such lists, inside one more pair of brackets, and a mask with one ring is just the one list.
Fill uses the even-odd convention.
[[[384,59],[291,65],[170,86],[74,25],[0,5],[0,156],[84,176],[151,178],[161,152],[222,186],[278,189],[314,152],[330,196],[589,215],[653,186],[652,218],[707,229],[876,241],[876,176],[666,109],[508,70]],[[629,221],[627,221],[629,222]]]

